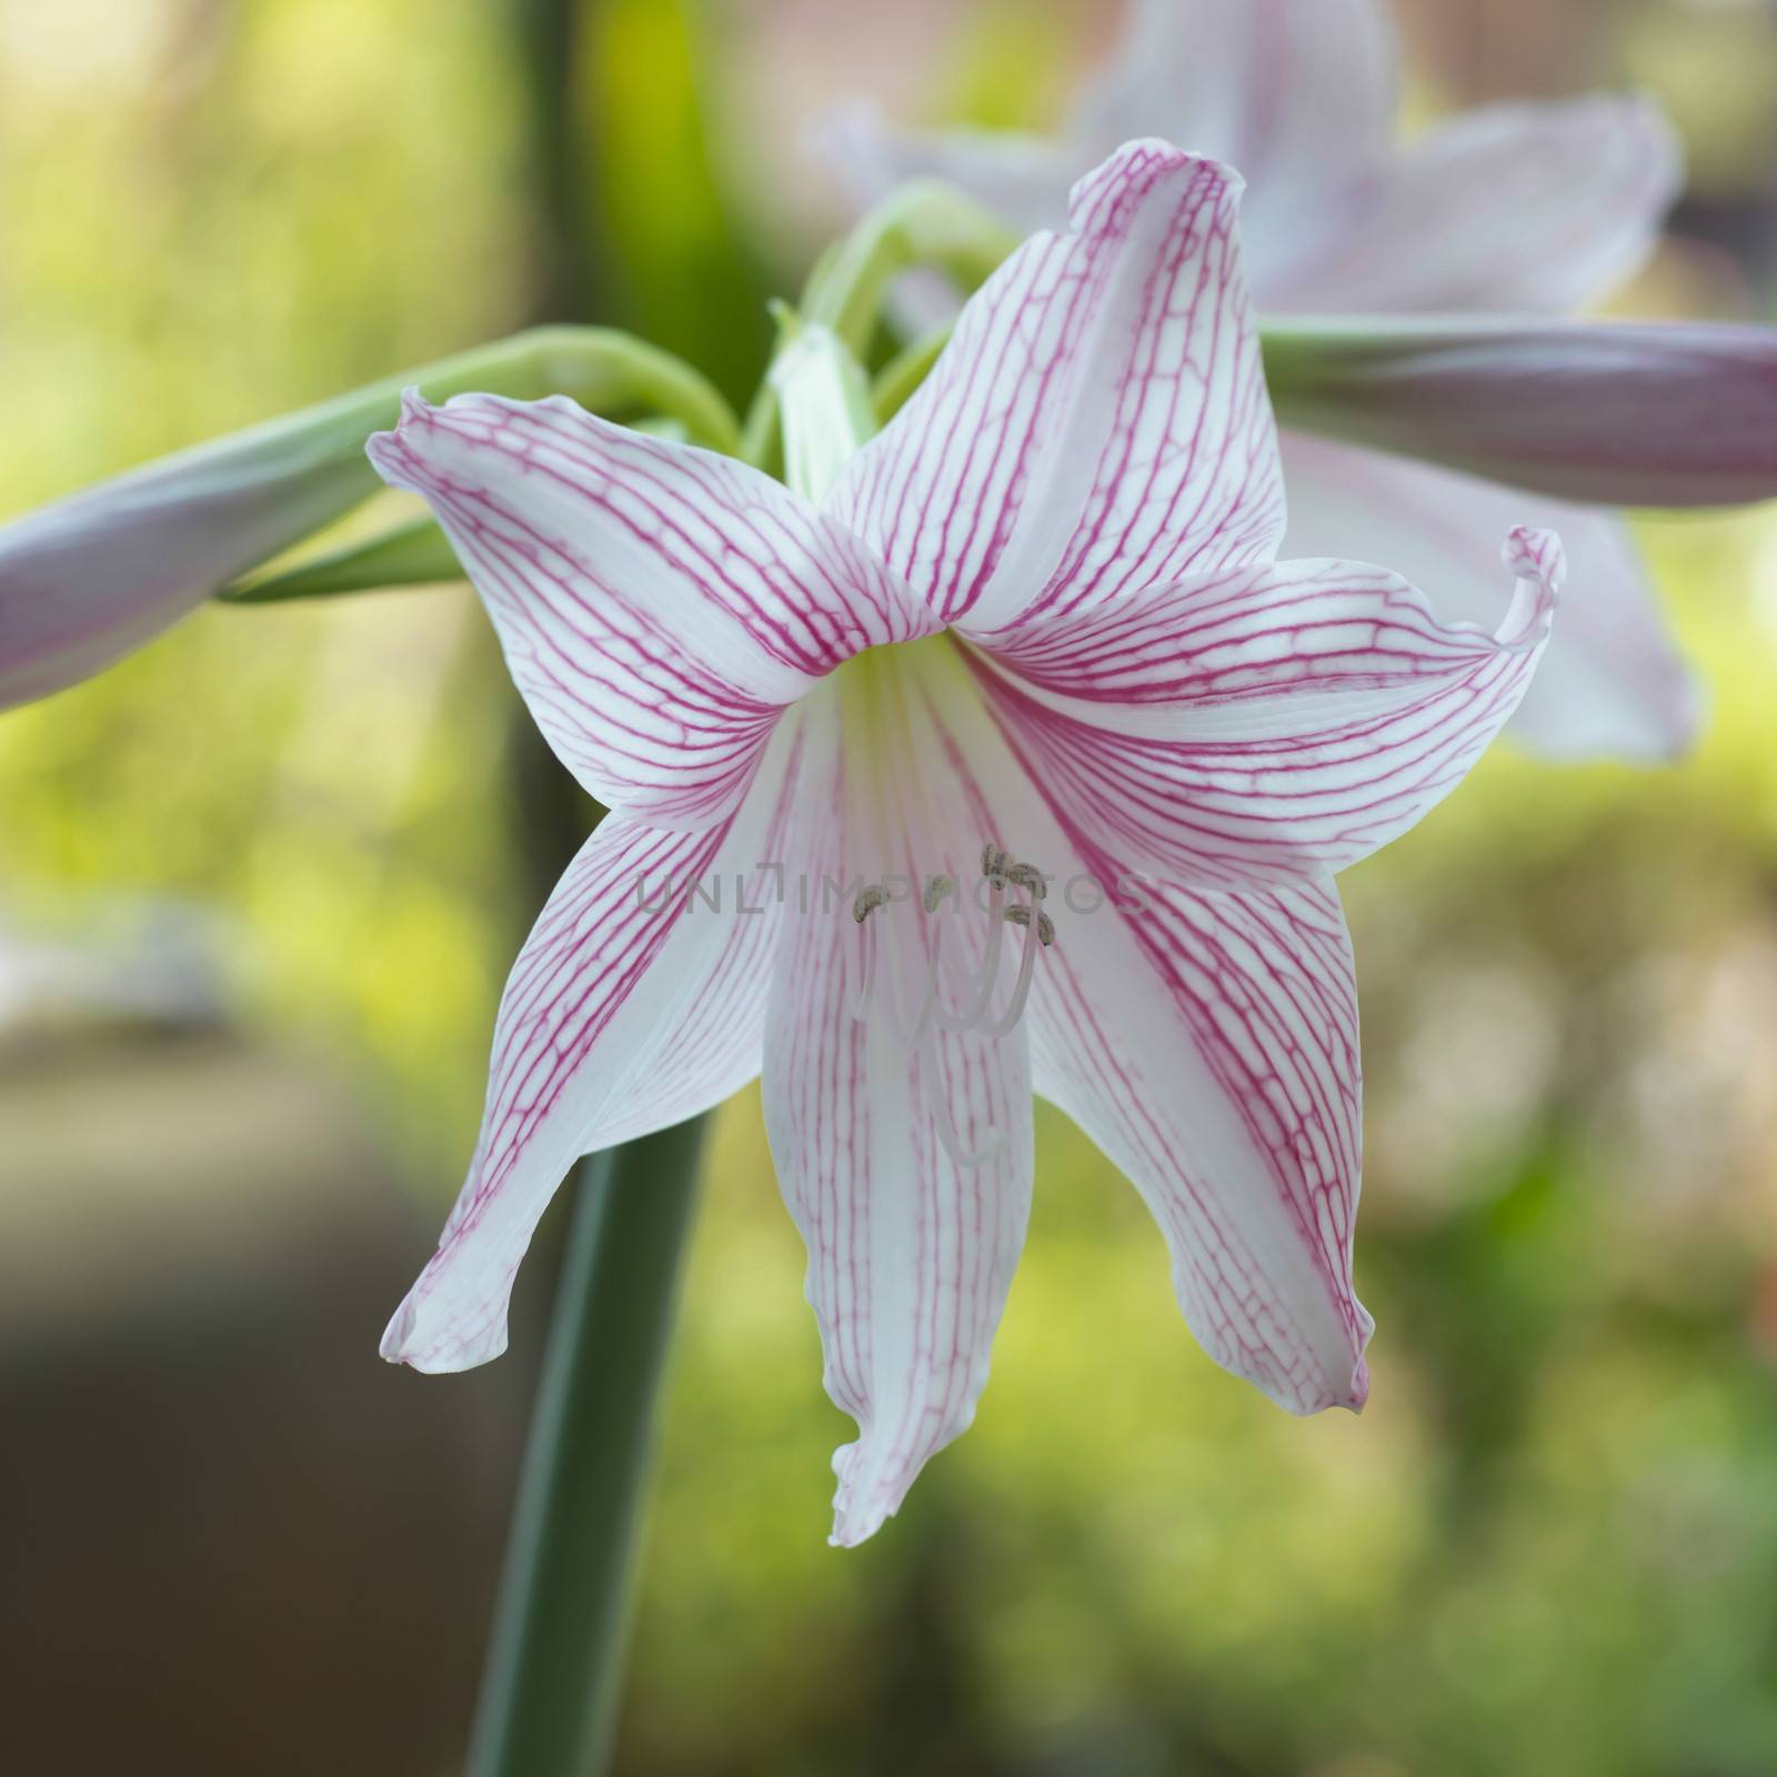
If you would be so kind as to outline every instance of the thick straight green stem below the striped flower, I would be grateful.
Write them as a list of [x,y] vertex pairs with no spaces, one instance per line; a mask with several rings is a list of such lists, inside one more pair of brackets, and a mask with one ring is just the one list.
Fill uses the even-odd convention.
[[581,1167],[467,1777],[590,1777],[617,1727],[702,1120]]

